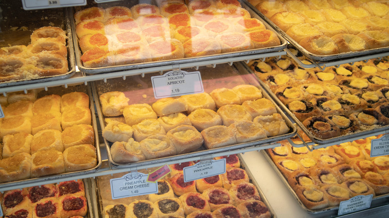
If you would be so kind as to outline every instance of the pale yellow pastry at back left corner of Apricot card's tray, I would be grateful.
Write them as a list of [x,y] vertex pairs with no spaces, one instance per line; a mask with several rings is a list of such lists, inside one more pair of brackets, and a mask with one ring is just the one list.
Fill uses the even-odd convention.
[[100,95],[100,104],[104,116],[119,116],[128,106],[129,99],[122,92],[107,92]]

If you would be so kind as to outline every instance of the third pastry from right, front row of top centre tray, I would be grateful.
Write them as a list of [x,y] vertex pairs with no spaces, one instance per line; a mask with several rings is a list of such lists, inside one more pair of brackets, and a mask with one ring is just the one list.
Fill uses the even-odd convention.
[[185,57],[187,58],[221,53],[220,44],[217,40],[208,36],[197,36],[191,38],[186,41],[183,46]]

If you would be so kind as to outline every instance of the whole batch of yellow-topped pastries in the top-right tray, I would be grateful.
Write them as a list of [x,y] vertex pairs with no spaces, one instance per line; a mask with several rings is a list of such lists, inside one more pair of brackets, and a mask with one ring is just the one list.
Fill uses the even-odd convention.
[[261,13],[315,55],[389,46],[386,1],[251,0]]

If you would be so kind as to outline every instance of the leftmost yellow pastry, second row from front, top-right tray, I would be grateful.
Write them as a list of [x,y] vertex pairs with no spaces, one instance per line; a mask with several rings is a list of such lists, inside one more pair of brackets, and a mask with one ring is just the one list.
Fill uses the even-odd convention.
[[[292,39],[299,43],[302,39],[310,36],[321,35],[322,32],[310,23],[295,24],[286,31]],[[328,41],[328,40],[327,40]],[[324,40],[326,42],[326,40]]]

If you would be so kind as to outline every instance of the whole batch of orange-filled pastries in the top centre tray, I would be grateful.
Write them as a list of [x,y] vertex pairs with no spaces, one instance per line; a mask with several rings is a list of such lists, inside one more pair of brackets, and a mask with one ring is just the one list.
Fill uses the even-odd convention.
[[280,45],[277,35],[238,1],[90,7],[77,11],[74,19],[81,60],[89,68]]

